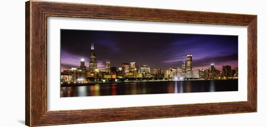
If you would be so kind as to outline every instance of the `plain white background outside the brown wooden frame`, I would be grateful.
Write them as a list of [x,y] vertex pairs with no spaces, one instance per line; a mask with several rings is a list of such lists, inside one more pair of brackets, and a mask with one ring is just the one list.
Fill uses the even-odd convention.
[[[54,1],[54,0],[53,0]],[[258,112],[181,118],[134,120],[60,127],[266,127],[267,118],[267,14],[264,0],[58,0],[83,3],[212,11],[258,15]],[[25,119],[25,3],[5,0],[0,3],[0,126],[23,127]],[[261,59],[260,59],[261,58]]]

